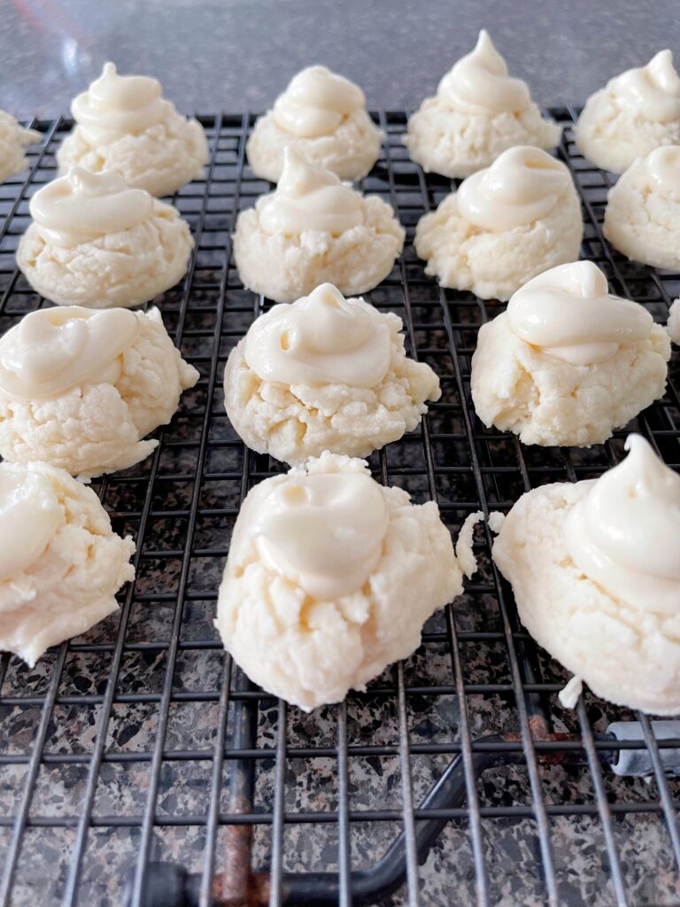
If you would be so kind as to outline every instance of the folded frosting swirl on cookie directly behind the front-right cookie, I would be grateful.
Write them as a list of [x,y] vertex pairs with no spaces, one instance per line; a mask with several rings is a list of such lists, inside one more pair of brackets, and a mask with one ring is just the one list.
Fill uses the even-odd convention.
[[510,298],[507,312],[514,334],[574,366],[604,362],[621,346],[644,340],[654,324],[636,302],[609,295],[607,278],[592,261],[544,271]]

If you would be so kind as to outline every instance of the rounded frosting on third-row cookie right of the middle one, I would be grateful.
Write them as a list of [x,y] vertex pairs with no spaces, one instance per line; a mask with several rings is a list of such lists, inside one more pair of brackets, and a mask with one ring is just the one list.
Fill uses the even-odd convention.
[[539,148],[518,145],[463,180],[456,199],[471,224],[500,232],[547,217],[572,189],[564,164]]

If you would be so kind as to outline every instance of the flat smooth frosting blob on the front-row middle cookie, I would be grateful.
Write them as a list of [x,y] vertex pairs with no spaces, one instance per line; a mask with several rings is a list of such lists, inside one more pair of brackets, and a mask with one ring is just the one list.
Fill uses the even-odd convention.
[[361,590],[383,551],[387,508],[361,473],[287,475],[272,483],[243,528],[267,566],[316,599]]

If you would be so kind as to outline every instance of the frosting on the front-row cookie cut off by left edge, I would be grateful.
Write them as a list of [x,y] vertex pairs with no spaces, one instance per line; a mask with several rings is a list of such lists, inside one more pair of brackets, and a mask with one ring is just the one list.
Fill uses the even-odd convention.
[[62,518],[47,476],[0,465],[0,580],[17,576],[37,561]]

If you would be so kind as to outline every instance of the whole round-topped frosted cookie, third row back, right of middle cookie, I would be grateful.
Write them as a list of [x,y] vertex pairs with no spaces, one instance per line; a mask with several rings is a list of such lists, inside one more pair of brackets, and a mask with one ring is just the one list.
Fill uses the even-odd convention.
[[538,148],[504,151],[423,215],[415,250],[442,287],[509,299],[548,268],[578,258],[580,203],[564,164]]

